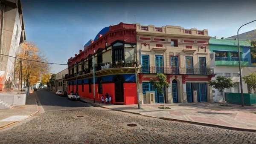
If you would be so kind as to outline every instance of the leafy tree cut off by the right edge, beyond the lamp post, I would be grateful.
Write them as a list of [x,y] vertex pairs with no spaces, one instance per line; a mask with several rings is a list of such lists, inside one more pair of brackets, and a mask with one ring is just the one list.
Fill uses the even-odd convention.
[[242,79],[247,85],[248,93],[253,89],[253,92],[256,94],[256,74],[250,73],[249,75],[244,75]]

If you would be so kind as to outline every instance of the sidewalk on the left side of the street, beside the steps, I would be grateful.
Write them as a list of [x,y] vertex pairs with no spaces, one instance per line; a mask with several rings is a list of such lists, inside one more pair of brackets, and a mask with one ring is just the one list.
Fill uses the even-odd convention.
[[0,130],[31,117],[39,112],[35,99],[35,93],[30,91],[25,106],[17,106],[12,109],[0,109]]

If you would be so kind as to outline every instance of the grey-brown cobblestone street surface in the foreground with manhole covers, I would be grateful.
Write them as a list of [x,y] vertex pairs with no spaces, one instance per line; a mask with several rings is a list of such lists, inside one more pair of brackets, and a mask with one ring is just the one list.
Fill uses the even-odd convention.
[[[129,127],[127,124],[137,124]],[[255,144],[255,132],[166,121],[100,107],[48,111],[0,132],[12,143],[181,143]]]

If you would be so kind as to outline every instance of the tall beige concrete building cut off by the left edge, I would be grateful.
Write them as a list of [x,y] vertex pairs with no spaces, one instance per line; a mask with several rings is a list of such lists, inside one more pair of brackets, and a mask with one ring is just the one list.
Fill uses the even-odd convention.
[[[15,58],[26,42],[20,0],[0,0],[0,90],[17,87]],[[12,57],[10,57],[12,56]]]

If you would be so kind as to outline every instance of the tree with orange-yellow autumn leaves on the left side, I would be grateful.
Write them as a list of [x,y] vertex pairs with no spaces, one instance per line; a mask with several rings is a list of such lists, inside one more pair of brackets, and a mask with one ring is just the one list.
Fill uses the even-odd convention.
[[[47,58],[43,52],[41,52],[35,43],[27,42],[22,47],[22,52],[17,55],[15,66],[17,75],[20,75],[20,66],[22,72],[22,80],[24,80],[24,86],[36,84],[40,81],[41,75],[48,73],[50,65],[47,63]],[[20,64],[21,60],[21,64]]]

